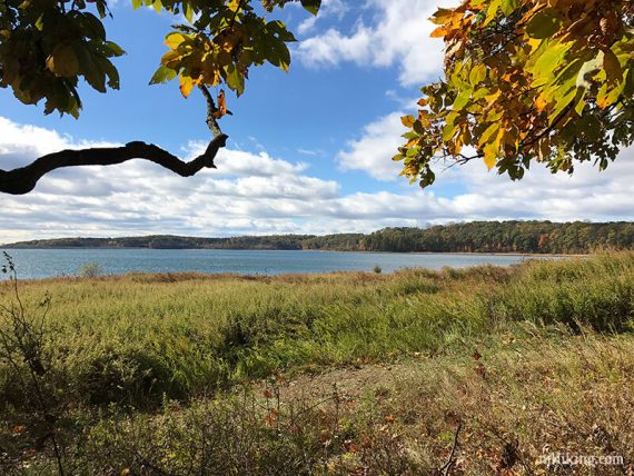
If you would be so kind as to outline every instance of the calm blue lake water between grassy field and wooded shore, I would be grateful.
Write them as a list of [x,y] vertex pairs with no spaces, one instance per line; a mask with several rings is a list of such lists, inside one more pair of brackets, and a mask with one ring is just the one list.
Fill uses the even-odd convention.
[[[1,250],[1,248],[0,248]],[[407,267],[440,269],[476,265],[508,266],[526,257],[501,255],[415,255],[392,252],[260,251],[216,249],[10,249],[22,279],[77,275],[81,265],[98,262],[103,272],[284,272],[369,271],[384,272]],[[552,257],[544,257],[552,259]]]

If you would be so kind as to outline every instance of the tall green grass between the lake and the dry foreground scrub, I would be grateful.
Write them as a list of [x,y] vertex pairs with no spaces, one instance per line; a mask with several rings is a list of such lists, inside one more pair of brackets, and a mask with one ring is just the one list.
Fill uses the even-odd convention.
[[[73,388],[91,403],[139,404],[280,371],[455,353],[519,321],[625,331],[634,254],[439,272],[22,284],[24,301],[44,292],[52,350]],[[0,369],[0,393],[10,378]]]

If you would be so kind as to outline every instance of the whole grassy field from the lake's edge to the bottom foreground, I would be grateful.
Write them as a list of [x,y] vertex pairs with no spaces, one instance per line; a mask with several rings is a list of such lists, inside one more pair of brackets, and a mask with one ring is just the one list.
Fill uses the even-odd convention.
[[[4,339],[3,473],[634,472],[633,252],[66,278],[19,296],[44,371]],[[10,282],[0,303],[17,303]],[[541,464],[549,452],[623,462]]]

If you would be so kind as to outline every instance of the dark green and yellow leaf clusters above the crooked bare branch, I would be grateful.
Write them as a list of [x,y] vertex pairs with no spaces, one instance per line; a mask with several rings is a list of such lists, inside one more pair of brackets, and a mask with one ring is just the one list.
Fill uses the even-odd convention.
[[[132,0],[135,8],[152,7],[187,19],[167,34],[168,51],[150,83],[178,77],[185,97],[195,86],[222,85],[239,96],[250,67],[268,61],[288,70],[287,43],[295,37],[281,21],[266,17],[289,1],[297,0]],[[300,2],[316,14],[321,0]],[[111,59],[123,50],[106,38],[107,16],[107,0],[3,0],[0,87],[10,87],[27,105],[43,99],[46,113],[79,117],[80,78],[100,92],[119,88]],[[225,112],[220,107],[218,116]]]

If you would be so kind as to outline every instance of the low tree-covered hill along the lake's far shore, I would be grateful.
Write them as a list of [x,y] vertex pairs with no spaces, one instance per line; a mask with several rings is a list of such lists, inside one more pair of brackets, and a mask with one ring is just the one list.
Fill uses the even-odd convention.
[[152,235],[127,238],[59,238],[3,248],[314,249],[399,252],[586,254],[634,249],[634,224],[616,221],[472,221],[427,228],[384,228],[369,235],[271,235],[197,238]]

